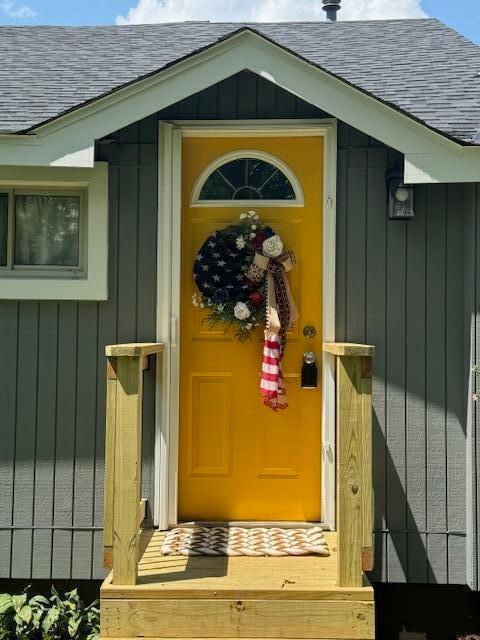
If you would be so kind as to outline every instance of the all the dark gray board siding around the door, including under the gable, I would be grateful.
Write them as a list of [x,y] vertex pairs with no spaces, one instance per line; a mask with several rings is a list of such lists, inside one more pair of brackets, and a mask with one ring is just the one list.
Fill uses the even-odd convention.
[[[155,337],[158,119],[319,117],[244,72],[98,146],[110,162],[109,301],[0,303],[0,577],[104,575],[103,348]],[[397,154],[342,123],[338,133],[337,339],[377,347],[372,577],[475,586],[480,443],[468,380],[470,334],[480,361],[480,321],[470,327],[469,315],[480,300],[479,194],[419,186],[416,218],[388,222],[385,171]],[[149,372],[147,497],[153,384]]]

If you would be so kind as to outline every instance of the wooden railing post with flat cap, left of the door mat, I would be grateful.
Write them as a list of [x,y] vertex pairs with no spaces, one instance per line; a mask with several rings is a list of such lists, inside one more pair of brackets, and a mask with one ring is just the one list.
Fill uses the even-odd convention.
[[141,512],[143,369],[162,344],[106,347],[104,558],[112,584],[134,585],[138,575]]

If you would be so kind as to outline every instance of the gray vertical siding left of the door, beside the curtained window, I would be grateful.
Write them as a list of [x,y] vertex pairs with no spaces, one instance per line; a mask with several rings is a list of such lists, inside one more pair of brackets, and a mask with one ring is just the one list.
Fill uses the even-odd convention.
[[[108,302],[0,302],[0,577],[102,577],[108,343],[155,338],[157,121],[110,161]],[[144,495],[152,495],[146,374]]]

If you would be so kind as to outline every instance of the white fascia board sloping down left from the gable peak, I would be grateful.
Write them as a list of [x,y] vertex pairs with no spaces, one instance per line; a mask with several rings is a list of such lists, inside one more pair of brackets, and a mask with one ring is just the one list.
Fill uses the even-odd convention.
[[95,140],[245,69],[242,36],[38,127],[34,134],[1,136],[0,165],[93,167]]

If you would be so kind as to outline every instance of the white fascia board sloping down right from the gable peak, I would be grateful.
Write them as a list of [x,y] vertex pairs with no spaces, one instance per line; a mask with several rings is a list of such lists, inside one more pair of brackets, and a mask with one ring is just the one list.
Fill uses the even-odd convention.
[[406,182],[480,182],[480,147],[463,147],[294,54],[278,55],[256,37],[251,71],[403,153]]

